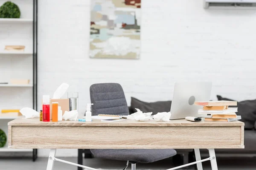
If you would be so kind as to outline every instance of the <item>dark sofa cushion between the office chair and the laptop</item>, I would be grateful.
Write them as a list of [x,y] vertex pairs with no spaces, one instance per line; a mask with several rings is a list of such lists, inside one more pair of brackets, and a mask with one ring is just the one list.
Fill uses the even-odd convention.
[[134,97],[131,97],[131,109],[133,113],[136,112],[135,108],[145,112],[153,112],[152,115],[158,112],[169,112],[171,110],[172,101],[160,101],[160,102],[143,102]]

